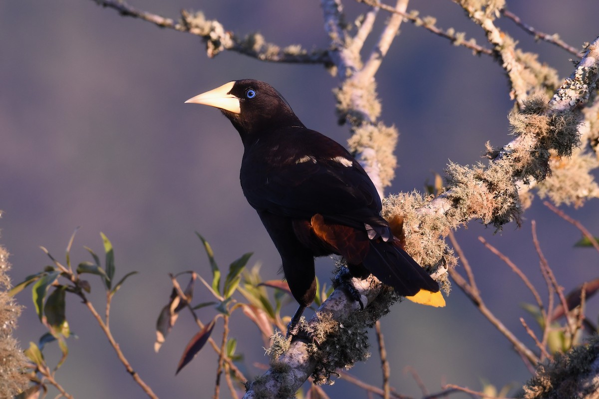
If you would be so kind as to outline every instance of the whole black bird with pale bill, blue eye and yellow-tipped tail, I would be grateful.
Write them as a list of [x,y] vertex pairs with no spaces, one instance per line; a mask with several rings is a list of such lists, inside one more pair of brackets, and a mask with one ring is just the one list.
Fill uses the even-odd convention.
[[314,257],[323,255],[343,256],[352,276],[372,273],[401,296],[444,306],[437,282],[381,217],[379,194],[364,169],[342,145],[305,127],[277,90],[238,80],[186,102],[220,108],[241,136],[243,193],[279,250],[299,303],[288,334],[297,334],[314,300]]

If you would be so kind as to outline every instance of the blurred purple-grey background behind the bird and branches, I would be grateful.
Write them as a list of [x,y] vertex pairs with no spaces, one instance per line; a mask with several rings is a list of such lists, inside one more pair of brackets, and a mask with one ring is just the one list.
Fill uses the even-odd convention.
[[[316,1],[131,1],[172,18],[181,8],[203,10],[228,30],[241,35],[259,31],[281,46],[328,45]],[[348,20],[366,10],[352,1],[344,3]],[[559,33],[574,47],[599,34],[597,2],[507,4],[528,24]],[[485,43],[480,28],[453,2],[415,0],[409,9],[437,17],[441,28],[466,31],[468,38]],[[379,20],[386,18],[381,12]],[[570,74],[569,53],[536,43],[509,21],[500,26],[524,50],[539,52],[539,60],[558,69],[561,77]],[[241,193],[237,132],[215,109],[183,102],[231,80],[256,78],[276,87],[308,127],[345,142],[347,128],[336,124],[331,93],[337,79],[322,66],[263,63],[236,53],[208,59],[201,39],[121,17],[93,1],[4,1],[0,27],[0,243],[11,252],[13,282],[49,263],[40,245],[62,259],[69,236],[81,226],[72,251],[78,263],[90,260],[83,245],[102,251],[99,232],[104,232],[115,248],[117,278],[140,272],[116,294],[111,311],[113,334],[125,355],[159,396],[208,397],[216,374],[210,348],[174,376],[180,354],[196,331],[187,315],[159,354],[152,349],[156,318],[170,294],[167,273],[194,269],[210,276],[194,231],[211,243],[223,267],[253,251],[250,264],[261,263],[264,278],[275,279],[280,259]],[[368,41],[366,48],[373,44]],[[488,56],[473,56],[404,23],[377,79],[382,120],[401,132],[400,167],[389,192],[422,190],[432,172],[442,172],[449,160],[472,165],[480,160],[486,141],[503,145],[511,139],[509,87],[503,70]],[[565,210],[599,234],[597,201]],[[566,290],[597,277],[598,255],[591,249],[574,249],[579,232],[539,199],[526,212],[522,229],[510,224],[493,234],[492,228],[473,221],[457,236],[488,306],[533,347],[519,322],[519,317],[527,317],[520,304],[533,298],[476,239],[482,235],[504,251],[544,296],[531,220],[537,221],[544,254]],[[319,261],[318,266],[320,279],[328,280],[332,261]],[[89,278],[90,297],[102,309],[102,287],[95,277]],[[209,300],[201,287],[196,298]],[[30,291],[17,300],[26,306],[16,331],[26,347],[44,330]],[[293,312],[295,303],[285,309]],[[143,397],[74,297],[68,301],[67,315],[78,339],[69,340],[69,358],[57,374],[65,389],[76,398]],[[214,310],[204,308],[199,315],[207,321]],[[589,316],[597,320],[592,301]],[[533,324],[530,317],[527,320]],[[240,340],[238,352],[246,356],[246,375],[262,373],[253,366],[267,363],[257,328],[241,315],[234,316],[231,328]],[[407,366],[415,368],[430,391],[443,383],[481,389],[480,379],[517,386],[529,377],[509,343],[457,289],[441,310],[412,303],[394,306],[383,319],[383,331],[392,384],[403,394],[419,395],[418,385],[404,371]],[[218,333],[220,326],[214,331]],[[373,357],[350,373],[379,385],[375,348],[373,340]],[[58,352],[49,348],[47,357],[56,361]],[[342,380],[326,389],[331,397],[366,397]],[[223,389],[223,397],[227,395]]]

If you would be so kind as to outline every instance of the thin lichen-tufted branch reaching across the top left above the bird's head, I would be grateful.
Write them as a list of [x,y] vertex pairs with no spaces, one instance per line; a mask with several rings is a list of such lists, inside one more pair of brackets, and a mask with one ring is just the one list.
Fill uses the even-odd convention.
[[174,29],[175,31],[190,33],[200,36],[206,44],[208,57],[214,57],[223,50],[236,51],[262,61],[322,64],[331,66],[326,50],[307,51],[300,45],[279,45],[267,42],[260,33],[252,33],[240,37],[225,29],[217,20],[206,19],[201,12],[190,13],[181,11],[181,19],[175,21],[147,11],[138,10],[121,0],[93,0],[102,7],[112,8],[125,17],[134,17],[160,28]]

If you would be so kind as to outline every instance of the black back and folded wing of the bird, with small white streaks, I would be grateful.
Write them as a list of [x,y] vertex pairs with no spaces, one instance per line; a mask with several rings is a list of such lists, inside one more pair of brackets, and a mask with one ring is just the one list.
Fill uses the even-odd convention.
[[305,128],[277,132],[273,144],[261,139],[246,149],[241,169],[254,208],[292,218],[322,214],[359,229],[388,226],[373,182],[340,144]]

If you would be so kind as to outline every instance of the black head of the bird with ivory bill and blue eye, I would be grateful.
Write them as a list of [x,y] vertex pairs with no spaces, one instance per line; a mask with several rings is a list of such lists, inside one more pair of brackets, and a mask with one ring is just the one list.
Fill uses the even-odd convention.
[[258,80],[232,81],[186,102],[220,108],[246,145],[272,129],[304,127],[283,96]]

